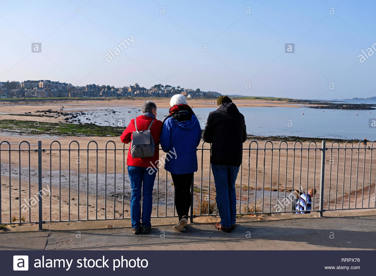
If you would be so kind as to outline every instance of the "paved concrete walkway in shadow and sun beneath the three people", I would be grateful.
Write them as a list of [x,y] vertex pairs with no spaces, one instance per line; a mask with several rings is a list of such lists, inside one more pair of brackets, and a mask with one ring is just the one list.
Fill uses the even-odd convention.
[[5,250],[332,250],[376,249],[376,211],[277,214],[238,218],[230,234],[199,217],[177,233],[176,218],[152,219],[148,235],[133,235],[130,220],[13,225],[0,232]]

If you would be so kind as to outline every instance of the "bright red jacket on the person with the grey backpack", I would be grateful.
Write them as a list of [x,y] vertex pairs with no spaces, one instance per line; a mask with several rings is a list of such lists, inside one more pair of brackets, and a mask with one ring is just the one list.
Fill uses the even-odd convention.
[[[136,118],[136,120],[137,120],[137,129],[139,131],[143,131],[149,128],[149,125],[153,119],[148,116],[140,115]],[[155,119],[152,127],[150,128],[150,133],[152,134],[154,143],[155,143],[154,156],[147,157],[147,158],[133,158],[132,155],[130,154],[130,145],[129,145],[128,156],[127,156],[128,166],[147,168],[147,167],[154,165],[155,167],[158,167],[158,160],[159,160],[158,145],[159,145],[159,136],[161,136],[161,132],[162,132],[162,126],[163,126],[163,122]],[[121,142],[126,143],[126,144],[129,143],[132,140],[133,131],[136,131],[135,119],[132,119],[130,121],[126,130],[124,130],[123,134],[121,134],[120,136]]]

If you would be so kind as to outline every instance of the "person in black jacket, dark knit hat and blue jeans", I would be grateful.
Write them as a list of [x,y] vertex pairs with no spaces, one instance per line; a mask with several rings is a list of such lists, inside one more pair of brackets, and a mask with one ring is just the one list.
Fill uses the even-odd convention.
[[215,228],[224,232],[235,229],[235,181],[247,139],[244,116],[227,96],[217,98],[218,109],[210,112],[203,140],[212,143],[211,167],[215,181],[217,207],[221,223]]

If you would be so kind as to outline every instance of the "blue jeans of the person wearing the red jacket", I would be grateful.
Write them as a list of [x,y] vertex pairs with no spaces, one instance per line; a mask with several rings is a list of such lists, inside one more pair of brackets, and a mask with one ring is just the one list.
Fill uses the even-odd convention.
[[[150,170],[144,167],[128,166],[130,187],[132,188],[132,195],[130,196],[130,220],[132,222],[132,228],[152,226],[150,217],[152,216],[152,196],[156,170],[153,171],[152,175],[149,174],[149,171]],[[140,223],[141,189],[143,196],[142,223]]]

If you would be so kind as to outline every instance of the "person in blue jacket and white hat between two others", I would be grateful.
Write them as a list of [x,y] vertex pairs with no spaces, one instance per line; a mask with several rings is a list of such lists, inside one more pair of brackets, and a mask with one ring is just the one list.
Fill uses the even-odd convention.
[[171,173],[175,187],[175,208],[179,223],[173,228],[185,231],[188,211],[191,207],[191,183],[193,173],[197,172],[197,146],[201,140],[199,120],[185,97],[174,95],[170,101],[170,115],[163,123],[159,138],[161,147],[167,152],[165,170]]

